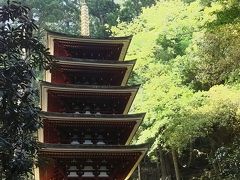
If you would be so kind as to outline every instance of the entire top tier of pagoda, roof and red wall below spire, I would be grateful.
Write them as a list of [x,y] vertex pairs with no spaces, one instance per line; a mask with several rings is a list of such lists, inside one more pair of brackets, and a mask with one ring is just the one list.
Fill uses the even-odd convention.
[[51,55],[80,59],[123,61],[132,36],[96,39],[47,31]]

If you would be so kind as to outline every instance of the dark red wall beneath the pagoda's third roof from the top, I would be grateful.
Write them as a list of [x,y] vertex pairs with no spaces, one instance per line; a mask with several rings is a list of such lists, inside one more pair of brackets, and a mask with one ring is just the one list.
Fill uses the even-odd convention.
[[130,94],[125,96],[96,96],[63,94],[64,97],[49,94],[48,111],[76,114],[122,114]]

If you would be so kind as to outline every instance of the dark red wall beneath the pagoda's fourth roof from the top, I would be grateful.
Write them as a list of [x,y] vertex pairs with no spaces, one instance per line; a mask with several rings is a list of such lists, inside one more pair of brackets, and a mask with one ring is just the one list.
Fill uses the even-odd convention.
[[[67,122],[66,122],[67,123]],[[131,125],[118,126],[112,124],[51,124],[44,122],[44,142],[57,144],[94,144],[94,145],[120,145],[125,144]],[[119,128],[116,128],[119,127]]]

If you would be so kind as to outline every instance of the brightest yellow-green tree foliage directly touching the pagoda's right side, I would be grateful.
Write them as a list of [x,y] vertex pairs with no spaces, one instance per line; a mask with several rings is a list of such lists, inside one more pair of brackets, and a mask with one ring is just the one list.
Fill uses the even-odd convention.
[[[179,109],[182,105],[175,104],[176,97],[182,97],[185,93],[191,94],[191,90],[180,85],[179,75],[173,73],[170,69],[171,66],[165,62],[184,54],[193,30],[199,30],[200,26],[208,20],[207,17],[207,20],[202,19],[202,23],[199,23],[203,13],[202,7],[198,3],[190,6],[180,1],[157,3],[152,8],[144,9],[143,14],[133,23],[122,23],[118,25],[117,29],[113,29],[113,32],[120,30],[119,35],[134,35],[128,58],[137,57],[135,73],[141,79],[139,81],[145,82],[137,96],[134,109],[147,110],[147,117],[143,125],[146,126],[146,129],[140,135],[141,142],[148,139],[148,135],[145,133],[149,133],[152,138],[155,138],[159,134],[160,126],[173,118],[171,115],[177,117],[176,110],[172,109]],[[122,31],[122,29],[127,29],[127,31]],[[184,36],[181,36],[182,34]],[[179,39],[185,39],[179,41],[184,44],[182,49],[179,47],[179,42],[174,39],[176,36]],[[178,47],[181,51],[180,54],[177,50]],[[174,92],[177,94],[173,95]],[[175,107],[162,112],[166,107],[171,106],[168,102]],[[183,102],[180,100],[179,103]]]

